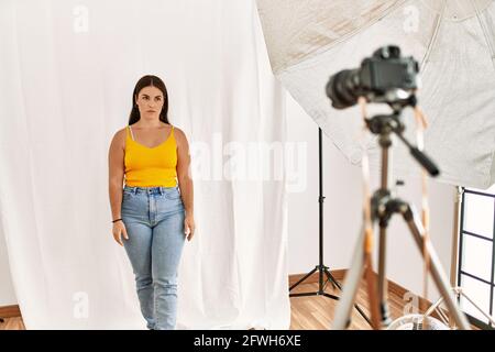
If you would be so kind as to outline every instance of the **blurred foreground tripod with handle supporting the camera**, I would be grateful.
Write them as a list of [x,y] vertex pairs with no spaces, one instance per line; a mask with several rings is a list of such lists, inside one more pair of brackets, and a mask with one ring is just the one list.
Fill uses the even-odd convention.
[[[408,105],[415,106],[416,99],[413,97]],[[393,197],[388,189],[391,182],[391,153],[392,146],[391,134],[395,133],[398,139],[406,144],[409,148],[413,157],[432,176],[437,176],[439,170],[437,166],[425,155],[419,148],[413,146],[403,135],[405,130],[404,124],[400,121],[400,113],[405,105],[391,106],[394,110],[392,114],[376,116],[371,119],[365,119],[369,130],[378,135],[378,144],[382,148],[382,177],[381,188],[373,194],[370,201],[370,216],[371,226],[366,228],[363,221],[360,239],[358,240],[352,257],[351,268],[345,276],[344,289],[341,297],[341,301],[337,307],[334,317],[333,329],[345,329],[349,316],[352,309],[352,304],[359,287],[359,283],[365,270],[371,273],[371,250],[370,250],[370,234],[373,231],[373,224],[378,222],[380,224],[380,246],[378,246],[378,273],[377,273],[377,289],[374,290],[374,278],[369,276],[369,289],[372,297],[371,311],[372,323],[374,329],[380,329],[389,324],[391,319],[388,316],[388,306],[386,301],[386,277],[385,277],[385,257],[386,257],[386,231],[388,222],[394,213],[400,213],[406,221],[411,235],[415,239],[416,244],[419,248],[421,254],[425,244],[427,246],[427,253],[430,261],[430,272],[435,280],[437,288],[446,301],[449,311],[455,323],[464,330],[469,330],[469,323],[465,316],[458,308],[455,298],[452,295],[452,290],[449,286],[447,275],[441,267],[440,260],[438,258],[435,249],[430,242],[425,243],[425,229],[421,222],[418,220],[418,216],[415,209],[406,201]],[[366,231],[365,231],[366,230]],[[367,261],[366,261],[367,260]],[[376,297],[374,295],[376,294]],[[375,301],[373,301],[375,299]]]

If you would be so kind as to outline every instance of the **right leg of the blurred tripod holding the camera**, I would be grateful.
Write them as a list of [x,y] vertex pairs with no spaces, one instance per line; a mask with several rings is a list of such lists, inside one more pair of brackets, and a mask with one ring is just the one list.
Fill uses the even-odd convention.
[[[407,226],[409,227],[409,230],[413,233],[416,244],[419,248],[419,252],[424,254],[422,249],[425,240],[424,239],[425,229],[422,228],[421,222],[418,221],[418,217],[415,213],[414,209],[407,204],[404,205],[400,212],[403,213],[404,219],[406,220]],[[465,318],[464,314],[459,309],[455,302],[455,298],[452,294],[452,288],[449,285],[447,274],[443,272],[440,260],[438,258],[437,253],[431,243],[427,243],[427,250],[430,256],[431,276],[435,280],[435,284],[437,285],[437,288],[439,289],[440,294],[446,300],[447,308],[449,308],[449,311],[452,314],[452,318],[454,319],[458,327],[460,327],[463,330],[471,330],[468,319]]]

